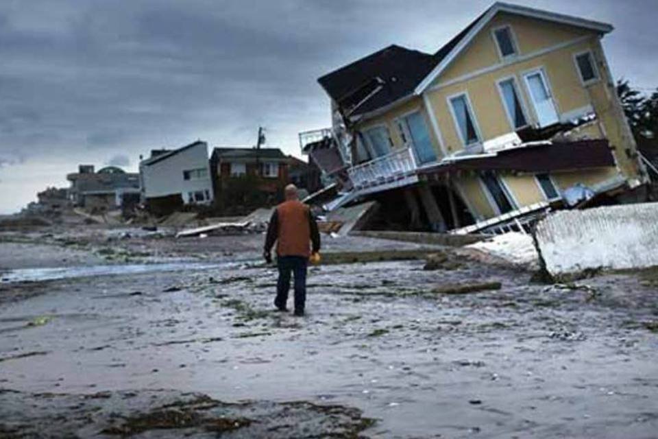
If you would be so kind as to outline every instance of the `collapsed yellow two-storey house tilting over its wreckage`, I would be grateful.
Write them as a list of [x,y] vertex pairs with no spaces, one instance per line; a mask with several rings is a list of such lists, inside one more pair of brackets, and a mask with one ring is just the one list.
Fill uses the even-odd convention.
[[612,29],[495,3],[435,54],[393,45],[319,78],[331,139],[302,147],[337,150],[341,202],[376,198],[415,228],[614,198],[648,178],[600,43]]

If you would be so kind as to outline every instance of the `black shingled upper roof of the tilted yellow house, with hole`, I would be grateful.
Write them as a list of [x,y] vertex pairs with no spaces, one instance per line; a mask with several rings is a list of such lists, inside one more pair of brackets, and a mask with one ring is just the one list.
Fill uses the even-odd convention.
[[349,99],[352,93],[358,93],[360,88],[372,80],[376,78],[381,80],[383,82],[381,90],[358,106],[352,115],[362,115],[392,104],[402,97],[411,95],[414,88],[443,58],[448,56],[450,51],[465,38],[488,11],[489,9],[480,14],[433,55],[398,45],[390,45],[322,76],[317,82],[334,102],[341,105],[341,101]]

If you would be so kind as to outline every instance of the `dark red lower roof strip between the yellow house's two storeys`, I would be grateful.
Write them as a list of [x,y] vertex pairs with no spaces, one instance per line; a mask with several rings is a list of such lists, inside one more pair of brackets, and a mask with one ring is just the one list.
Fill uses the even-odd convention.
[[499,151],[424,168],[419,174],[442,174],[453,171],[550,172],[614,166],[606,139],[553,142]]

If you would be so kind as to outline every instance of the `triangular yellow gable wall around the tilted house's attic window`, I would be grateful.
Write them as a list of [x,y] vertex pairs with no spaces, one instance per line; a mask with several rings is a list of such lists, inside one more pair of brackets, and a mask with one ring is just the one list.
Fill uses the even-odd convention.
[[[493,38],[493,29],[510,26],[517,45],[517,58],[532,56],[538,51],[559,47],[583,38],[596,37],[593,29],[577,27],[544,19],[498,12],[491,21],[476,34],[471,43],[456,56],[452,63],[432,82],[432,85],[460,78],[468,73],[503,64]],[[508,60],[506,62],[513,62]]]

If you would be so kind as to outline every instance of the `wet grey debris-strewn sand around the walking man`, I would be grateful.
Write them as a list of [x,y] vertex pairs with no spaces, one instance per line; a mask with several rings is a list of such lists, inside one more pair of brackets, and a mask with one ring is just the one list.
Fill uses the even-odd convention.
[[[179,245],[193,248],[166,241],[158,246],[170,257],[191,251]],[[204,260],[218,262],[233,241],[198,239],[212,255]],[[335,251],[409,248],[338,241]],[[239,256],[257,256],[260,237],[243,246]],[[222,403],[271,401],[271,416],[289,401],[358,410],[376,419],[360,433],[372,438],[655,436],[658,285],[635,274],[537,285],[529,272],[474,261],[422,267],[312,268],[304,318],[273,311],[276,270],[248,264],[4,283],[0,294],[13,300],[0,311],[0,387],[20,393],[0,401],[169,389]],[[491,281],[502,288],[432,292]],[[43,410],[66,416],[66,407]],[[18,412],[0,411],[0,425],[12,416],[20,423]],[[349,434],[337,437],[358,433]]]

